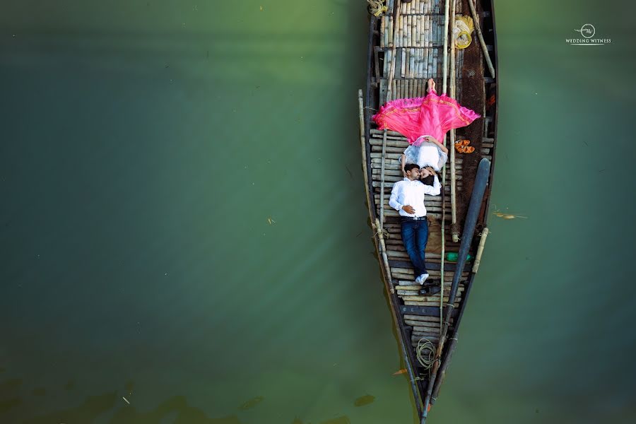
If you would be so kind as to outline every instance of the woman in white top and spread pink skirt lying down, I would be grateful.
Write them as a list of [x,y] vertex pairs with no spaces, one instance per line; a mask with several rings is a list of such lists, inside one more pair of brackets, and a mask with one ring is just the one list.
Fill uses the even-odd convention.
[[435,81],[428,80],[425,98],[396,99],[387,102],[373,116],[378,129],[397,131],[408,140],[401,158],[402,171],[407,163],[439,171],[448,160],[448,149],[440,143],[450,129],[471,124],[479,114],[459,105],[447,95],[437,95]]

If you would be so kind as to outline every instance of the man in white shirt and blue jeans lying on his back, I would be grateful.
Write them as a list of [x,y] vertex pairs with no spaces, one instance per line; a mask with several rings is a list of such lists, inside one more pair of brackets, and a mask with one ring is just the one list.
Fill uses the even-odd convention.
[[[424,195],[438,196],[442,184],[432,167],[422,168],[415,163],[408,163],[404,167],[406,177],[394,184],[391,190],[389,206],[400,213],[401,236],[404,248],[415,268],[416,283],[424,284],[428,278],[424,262],[424,250],[428,242],[428,220]],[[420,182],[420,177],[434,175],[433,185]]]

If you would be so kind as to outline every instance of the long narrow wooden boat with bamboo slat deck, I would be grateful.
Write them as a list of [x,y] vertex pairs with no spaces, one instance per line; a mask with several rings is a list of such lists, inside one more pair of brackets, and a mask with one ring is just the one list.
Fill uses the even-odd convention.
[[[387,11],[370,17],[367,87],[365,93],[360,90],[359,98],[360,141],[377,257],[413,398],[424,423],[456,347],[488,235],[490,164],[497,145],[495,20],[492,0],[385,3]],[[457,14],[472,16],[475,23],[471,44],[465,49],[456,48],[450,36],[444,37]],[[441,280],[443,297],[441,293],[420,295],[402,245],[399,213],[388,206],[394,182],[403,178],[398,160],[408,146],[406,138],[379,131],[371,119],[388,100],[424,96],[428,78],[435,80],[438,93],[448,93],[482,115],[457,129],[457,134],[449,131],[445,143],[451,152],[442,170],[442,194],[425,200],[430,225],[426,263],[430,278]],[[456,139],[469,139],[475,151],[454,152]],[[435,237],[437,246],[431,242]],[[447,257],[451,253],[457,254],[457,261]]]

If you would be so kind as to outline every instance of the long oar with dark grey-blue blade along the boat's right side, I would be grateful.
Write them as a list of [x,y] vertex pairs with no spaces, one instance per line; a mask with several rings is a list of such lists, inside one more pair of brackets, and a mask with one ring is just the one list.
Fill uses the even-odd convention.
[[430,398],[432,396],[432,389],[435,386],[435,379],[437,378],[437,372],[440,370],[440,363],[442,357],[442,351],[444,350],[444,343],[447,339],[448,327],[450,325],[450,318],[454,310],[455,297],[457,296],[457,289],[459,288],[459,278],[461,278],[461,270],[466,265],[466,257],[468,256],[471,242],[473,241],[473,235],[475,233],[475,227],[477,225],[477,218],[479,217],[479,211],[481,209],[481,202],[483,201],[483,194],[485,192],[486,184],[488,183],[488,175],[490,174],[490,160],[483,158],[477,168],[477,176],[475,178],[475,185],[473,187],[473,193],[471,194],[471,202],[469,204],[468,213],[466,213],[466,222],[464,223],[464,233],[461,235],[461,245],[459,245],[459,257],[457,258],[457,265],[453,276],[453,283],[448,296],[448,302],[446,305],[446,313],[444,314],[444,324],[442,324],[442,332],[440,334],[440,343],[437,344],[437,352],[435,354],[435,363],[433,364],[432,371],[430,373],[430,379],[428,380],[428,386],[426,388],[426,395],[424,399],[424,407],[422,411],[421,424],[424,424],[426,417],[428,416],[428,406],[430,405]]

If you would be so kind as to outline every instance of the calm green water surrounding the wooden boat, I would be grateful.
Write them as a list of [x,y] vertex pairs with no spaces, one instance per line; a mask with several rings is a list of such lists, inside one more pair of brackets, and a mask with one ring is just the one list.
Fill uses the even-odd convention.
[[[416,422],[364,2],[5,3],[0,422]],[[529,218],[490,223],[431,422],[632,422],[634,10],[495,7],[493,204]],[[611,44],[565,43],[588,22]]]

